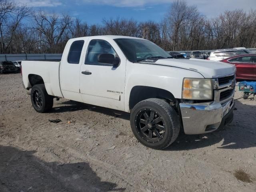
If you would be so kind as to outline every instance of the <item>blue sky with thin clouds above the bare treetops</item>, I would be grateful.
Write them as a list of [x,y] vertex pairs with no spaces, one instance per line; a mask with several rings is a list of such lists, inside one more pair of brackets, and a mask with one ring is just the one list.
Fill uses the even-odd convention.
[[[67,13],[90,24],[100,23],[102,18],[134,18],[135,20],[160,21],[174,0],[14,0],[35,9]],[[211,18],[225,10],[256,9],[256,0],[187,0]]]

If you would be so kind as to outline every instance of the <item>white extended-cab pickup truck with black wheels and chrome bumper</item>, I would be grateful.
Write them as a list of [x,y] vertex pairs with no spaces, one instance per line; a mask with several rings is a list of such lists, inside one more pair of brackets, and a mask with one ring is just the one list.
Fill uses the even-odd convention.
[[212,132],[233,119],[236,68],[178,60],[156,44],[126,36],[70,39],[60,62],[22,61],[24,88],[37,112],[66,98],[129,112],[135,137],[164,149],[180,131]]

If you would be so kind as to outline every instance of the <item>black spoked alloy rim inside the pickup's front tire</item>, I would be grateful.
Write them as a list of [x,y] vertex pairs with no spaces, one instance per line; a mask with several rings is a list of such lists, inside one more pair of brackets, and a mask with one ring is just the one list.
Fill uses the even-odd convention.
[[138,134],[147,142],[160,142],[164,138],[164,120],[152,109],[140,110],[136,114],[135,124]]

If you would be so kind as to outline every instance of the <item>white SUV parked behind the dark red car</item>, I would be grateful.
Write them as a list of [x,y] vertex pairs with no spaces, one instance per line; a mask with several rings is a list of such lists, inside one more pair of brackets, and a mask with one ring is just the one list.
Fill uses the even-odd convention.
[[245,48],[219,49],[211,52],[206,59],[212,60],[212,61],[220,61],[232,56],[236,56],[240,54],[248,54],[248,53],[252,53],[252,52]]

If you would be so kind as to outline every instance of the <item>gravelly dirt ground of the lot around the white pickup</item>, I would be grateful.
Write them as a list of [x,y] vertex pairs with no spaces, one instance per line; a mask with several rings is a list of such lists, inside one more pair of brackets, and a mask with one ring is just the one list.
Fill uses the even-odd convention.
[[137,142],[129,114],[65,99],[39,114],[21,75],[0,74],[0,192],[255,192],[256,102],[241,95],[224,130],[161,151]]

